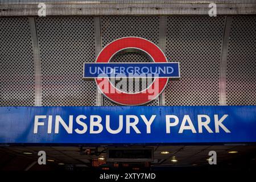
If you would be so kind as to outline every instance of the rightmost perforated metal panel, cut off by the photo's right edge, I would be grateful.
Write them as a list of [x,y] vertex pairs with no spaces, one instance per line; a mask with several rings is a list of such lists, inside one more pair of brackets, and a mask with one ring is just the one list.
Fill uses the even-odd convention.
[[256,16],[234,16],[228,44],[228,105],[256,105]]

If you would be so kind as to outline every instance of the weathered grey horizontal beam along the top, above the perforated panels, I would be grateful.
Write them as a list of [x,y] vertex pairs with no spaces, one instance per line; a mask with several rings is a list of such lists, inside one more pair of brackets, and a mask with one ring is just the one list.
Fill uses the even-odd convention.
[[[230,1],[229,1],[230,2]],[[46,3],[47,16],[208,15],[210,2],[197,3]],[[38,4],[1,4],[0,16],[38,16]],[[256,14],[256,1],[217,3],[217,15]]]

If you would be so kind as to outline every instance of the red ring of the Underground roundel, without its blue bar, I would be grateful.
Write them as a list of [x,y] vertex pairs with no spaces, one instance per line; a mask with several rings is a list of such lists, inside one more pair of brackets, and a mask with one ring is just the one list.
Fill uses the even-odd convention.
[[[154,43],[150,42],[149,40],[143,39],[143,38],[137,38],[137,37],[126,37],[114,40],[114,42],[108,44],[100,54],[98,55],[96,59],[96,63],[108,63],[111,59],[111,57],[121,49],[125,48],[138,48],[145,52],[147,52],[155,62],[164,63],[167,62],[166,56],[164,56],[164,53],[161,51],[161,49],[156,46]],[[167,82],[168,78],[155,78],[158,79],[159,82],[159,94],[163,92]],[[110,81],[108,78],[95,78],[96,84],[100,84],[102,81],[102,84],[108,84],[108,90],[113,89],[114,93],[104,93],[103,90],[101,90],[100,86],[98,86],[101,90],[101,92],[108,97],[113,102],[117,102],[121,105],[142,105],[146,104],[147,102],[152,101],[152,99],[148,99],[148,96],[152,95],[152,93],[125,93],[119,91],[117,93],[117,89],[110,84]],[[152,89],[155,86],[155,81],[151,84],[151,86],[148,89]],[[154,98],[158,97],[159,94],[157,94]]]

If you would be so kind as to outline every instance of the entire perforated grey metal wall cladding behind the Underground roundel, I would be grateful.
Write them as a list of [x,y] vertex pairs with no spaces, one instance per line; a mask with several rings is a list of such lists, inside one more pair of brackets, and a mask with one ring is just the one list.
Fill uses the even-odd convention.
[[[226,49],[226,104],[256,105],[256,16],[234,16]],[[94,62],[94,17],[35,18],[43,106],[97,105],[96,84],[82,80],[84,62]],[[101,48],[124,36],[151,40],[179,61],[181,78],[148,105],[220,105],[220,67],[226,17],[168,16],[164,41],[160,16],[100,17]],[[35,105],[35,65],[27,18],[0,18],[1,106]],[[161,27],[161,28],[160,28]],[[150,61],[125,53],[112,61]],[[138,86],[138,85],[137,85]],[[103,105],[115,105],[104,98]]]

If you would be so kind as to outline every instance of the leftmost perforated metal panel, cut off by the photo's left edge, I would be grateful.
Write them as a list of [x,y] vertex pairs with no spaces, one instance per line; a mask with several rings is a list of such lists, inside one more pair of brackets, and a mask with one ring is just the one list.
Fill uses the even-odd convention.
[[0,106],[34,105],[34,61],[27,18],[0,18]]

